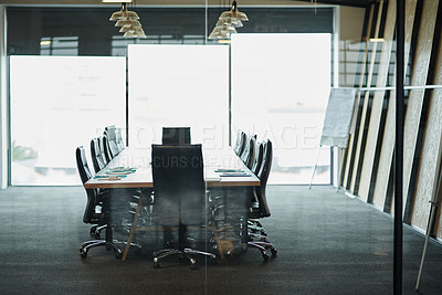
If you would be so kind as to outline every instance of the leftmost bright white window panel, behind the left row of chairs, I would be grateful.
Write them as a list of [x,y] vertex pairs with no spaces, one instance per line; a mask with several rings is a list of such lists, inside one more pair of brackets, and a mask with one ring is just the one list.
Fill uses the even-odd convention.
[[11,185],[80,183],[75,148],[125,126],[125,96],[124,57],[11,56]]

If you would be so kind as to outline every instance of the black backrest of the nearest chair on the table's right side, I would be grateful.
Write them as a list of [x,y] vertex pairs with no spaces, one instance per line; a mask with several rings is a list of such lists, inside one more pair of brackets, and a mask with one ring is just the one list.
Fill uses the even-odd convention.
[[260,178],[261,186],[256,188],[256,199],[259,202],[259,210],[260,215],[263,218],[270,217],[270,209],[267,204],[266,198],[266,187],[267,187],[267,179],[270,175],[270,170],[272,168],[272,160],[273,160],[273,147],[272,141],[267,140],[264,144],[264,157],[261,165],[261,168],[257,172],[257,178]]

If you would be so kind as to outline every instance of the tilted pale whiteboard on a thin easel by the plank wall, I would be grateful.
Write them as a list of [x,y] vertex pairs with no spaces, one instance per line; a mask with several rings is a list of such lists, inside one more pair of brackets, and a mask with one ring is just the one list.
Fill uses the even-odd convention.
[[320,146],[347,147],[354,114],[355,94],[355,88],[330,89]]

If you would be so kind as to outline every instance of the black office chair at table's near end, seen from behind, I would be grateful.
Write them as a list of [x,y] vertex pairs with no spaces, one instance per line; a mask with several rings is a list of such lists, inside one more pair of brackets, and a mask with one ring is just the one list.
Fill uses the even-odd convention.
[[201,145],[160,146],[152,145],[152,178],[155,190],[154,217],[167,228],[178,226],[178,247],[154,253],[154,267],[160,267],[159,260],[173,254],[186,256],[191,268],[196,260],[191,254],[215,255],[187,246],[186,234],[189,225],[201,229],[206,214],[206,182]]

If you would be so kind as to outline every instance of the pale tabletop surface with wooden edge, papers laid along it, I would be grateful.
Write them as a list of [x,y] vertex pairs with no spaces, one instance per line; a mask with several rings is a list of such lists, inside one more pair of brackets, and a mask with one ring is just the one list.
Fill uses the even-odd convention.
[[[260,186],[260,179],[242,162],[242,160],[229,149],[203,149],[204,179],[208,187],[255,187]],[[150,148],[125,148],[97,177],[108,176],[112,169],[117,167],[136,168],[135,172],[119,177],[119,180],[105,178],[92,178],[84,187],[86,189],[97,188],[152,188],[151,175],[151,149]],[[217,169],[242,169],[248,176],[225,176],[217,172]],[[134,171],[133,170],[133,171]],[[123,175],[123,173],[122,173]],[[224,175],[224,176],[223,176]]]

